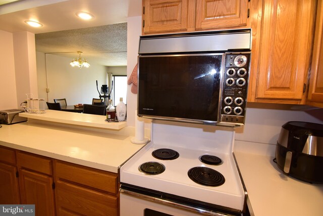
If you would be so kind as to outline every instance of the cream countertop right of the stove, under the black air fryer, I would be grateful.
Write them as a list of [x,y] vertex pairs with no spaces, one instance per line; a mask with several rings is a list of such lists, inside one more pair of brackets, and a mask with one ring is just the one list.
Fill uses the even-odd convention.
[[[247,145],[236,141],[234,153],[254,215],[323,215],[323,184],[310,184],[283,174],[273,162],[275,153],[268,150],[275,145],[265,147],[270,154],[259,154],[259,150],[250,153]],[[251,145],[255,149],[265,144]]]

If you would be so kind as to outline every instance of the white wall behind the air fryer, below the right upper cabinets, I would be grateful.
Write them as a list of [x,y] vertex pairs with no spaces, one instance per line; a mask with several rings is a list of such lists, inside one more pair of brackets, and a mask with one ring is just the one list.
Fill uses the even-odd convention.
[[236,140],[276,144],[282,125],[289,121],[323,124],[323,109],[304,105],[248,103],[245,125]]

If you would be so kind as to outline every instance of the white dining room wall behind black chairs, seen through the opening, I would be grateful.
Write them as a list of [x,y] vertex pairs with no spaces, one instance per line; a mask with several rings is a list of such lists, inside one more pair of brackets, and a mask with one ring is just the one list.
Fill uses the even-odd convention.
[[[41,80],[39,95],[48,102],[53,102],[54,98],[66,98],[68,105],[91,104],[92,98],[99,98],[96,80],[99,86],[107,84],[107,67],[91,64],[89,68],[80,69],[71,67],[70,62],[70,58],[37,52],[38,79]],[[46,87],[49,88],[48,94]]]

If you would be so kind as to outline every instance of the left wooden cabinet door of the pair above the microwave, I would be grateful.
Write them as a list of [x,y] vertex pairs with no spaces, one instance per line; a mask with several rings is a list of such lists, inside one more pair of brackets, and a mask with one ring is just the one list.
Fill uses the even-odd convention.
[[143,1],[144,33],[186,31],[188,0]]

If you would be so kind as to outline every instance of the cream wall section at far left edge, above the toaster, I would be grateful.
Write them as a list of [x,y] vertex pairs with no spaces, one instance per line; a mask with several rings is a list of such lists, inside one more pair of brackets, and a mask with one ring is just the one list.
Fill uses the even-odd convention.
[[0,110],[17,109],[13,34],[0,30]]

